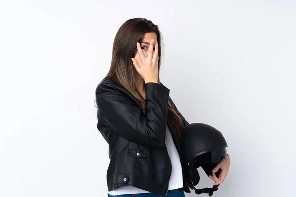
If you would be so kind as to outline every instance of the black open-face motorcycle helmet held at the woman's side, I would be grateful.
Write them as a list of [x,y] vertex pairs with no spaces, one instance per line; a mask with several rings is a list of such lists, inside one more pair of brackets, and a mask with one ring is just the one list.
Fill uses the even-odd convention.
[[[197,168],[202,167],[208,176],[212,175],[212,170],[221,159],[227,159],[226,147],[228,145],[225,138],[214,127],[203,123],[185,126],[182,141],[183,161],[188,186],[194,189],[196,194],[209,193],[209,196],[212,196],[213,192],[218,190],[219,185],[203,189],[194,187],[200,179]],[[220,171],[221,169],[215,173],[217,177]]]

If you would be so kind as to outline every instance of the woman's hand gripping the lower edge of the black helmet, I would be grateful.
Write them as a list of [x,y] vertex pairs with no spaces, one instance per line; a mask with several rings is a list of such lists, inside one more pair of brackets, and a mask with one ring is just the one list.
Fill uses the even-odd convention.
[[[223,183],[225,177],[228,174],[228,170],[230,167],[230,157],[228,155],[227,159],[223,158],[216,167],[212,170],[213,176],[209,176],[215,183],[213,185],[219,185]],[[219,169],[221,169],[221,172],[219,174],[219,178],[216,176],[215,172],[217,172]]]

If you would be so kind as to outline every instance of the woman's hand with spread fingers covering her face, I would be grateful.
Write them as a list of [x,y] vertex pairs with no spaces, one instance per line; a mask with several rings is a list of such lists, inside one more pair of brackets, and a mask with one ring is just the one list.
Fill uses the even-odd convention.
[[137,72],[140,74],[140,76],[143,78],[145,83],[153,82],[158,83],[158,44],[155,44],[155,52],[153,54],[153,47],[154,47],[154,40],[152,39],[150,41],[149,49],[148,49],[148,56],[145,57],[145,55],[142,52],[140,43],[137,42],[137,49],[138,54],[140,56],[140,61],[132,58],[133,64],[137,70]]

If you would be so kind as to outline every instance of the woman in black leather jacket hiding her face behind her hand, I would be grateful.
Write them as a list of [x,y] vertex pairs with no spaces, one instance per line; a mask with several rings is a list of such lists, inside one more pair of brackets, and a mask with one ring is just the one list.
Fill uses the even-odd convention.
[[[160,83],[160,42],[151,21],[126,21],[113,43],[110,70],[96,88],[97,128],[109,144],[109,197],[184,197],[189,192],[180,143],[188,122]],[[225,176],[228,163],[221,163]]]

